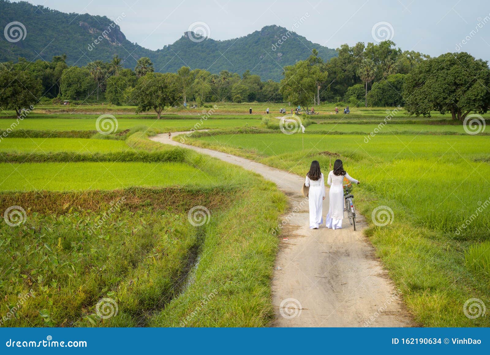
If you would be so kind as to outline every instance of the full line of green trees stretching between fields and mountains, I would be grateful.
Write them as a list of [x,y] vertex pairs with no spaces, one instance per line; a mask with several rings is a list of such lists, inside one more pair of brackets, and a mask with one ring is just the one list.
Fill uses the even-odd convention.
[[211,74],[183,66],[177,73],[156,73],[148,57],[133,69],[124,69],[116,55],[109,62],[68,66],[66,55],[50,62],[2,63],[0,107],[15,109],[40,98],[109,102],[137,106],[137,112],[196,102],[288,102],[308,109],[322,102],[352,106],[404,106],[410,114],[429,116],[431,110],[449,112],[464,120],[490,106],[488,62],[462,53],[429,57],[397,49],[392,41],[362,42],[338,49],[324,62],[313,50],[306,60],[284,67],[281,82],[262,82],[249,70],[242,75],[227,70]]

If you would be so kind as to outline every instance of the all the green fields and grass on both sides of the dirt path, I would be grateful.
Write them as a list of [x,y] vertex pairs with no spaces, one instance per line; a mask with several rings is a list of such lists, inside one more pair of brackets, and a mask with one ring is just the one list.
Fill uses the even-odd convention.
[[[379,118],[372,115],[384,110],[357,113],[362,124],[353,117],[315,117],[304,135],[267,130],[260,119],[246,115],[202,122],[128,115],[118,118],[119,128],[110,135],[97,133],[96,114],[24,119],[16,127],[26,131],[24,138],[0,141],[0,204],[3,209],[22,205],[27,221],[13,229],[2,224],[0,245],[5,258],[39,236],[44,245],[22,260],[23,269],[9,267],[5,259],[0,289],[7,303],[30,289],[42,297],[32,299],[11,326],[270,325],[277,239],[268,231],[284,211],[285,197],[243,169],[147,139],[147,134],[189,129],[215,131],[195,134],[188,143],[298,175],[313,159],[327,169],[329,154],[338,154],[362,182],[354,194],[371,225],[366,236],[417,324],[489,326],[487,318],[472,321],[461,312],[468,298],[490,298],[488,136],[466,135],[460,125],[396,121],[377,133]],[[0,130],[11,121],[0,119]],[[257,131],[267,134],[248,133]],[[108,214],[125,195],[131,202]],[[240,198],[229,198],[235,195]],[[211,222],[190,225],[187,212],[201,205],[209,207]],[[378,206],[392,211],[385,227],[371,223]],[[41,251],[48,262],[38,257]],[[198,255],[207,256],[189,272]],[[89,265],[93,270],[84,272]],[[247,274],[255,275],[252,283]],[[237,285],[232,290],[221,282],[229,278]],[[213,301],[187,320],[204,294]],[[95,307],[102,297],[118,302],[117,317],[98,317]],[[250,307],[245,311],[243,304]]]

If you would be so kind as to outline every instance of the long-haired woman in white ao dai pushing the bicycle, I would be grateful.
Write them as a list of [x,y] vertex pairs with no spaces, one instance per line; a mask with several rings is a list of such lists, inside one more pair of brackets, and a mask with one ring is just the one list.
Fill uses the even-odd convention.
[[[332,168],[332,164],[330,164]],[[337,159],[334,163],[334,168],[328,173],[327,184],[330,185],[329,192],[329,209],[325,221],[327,228],[341,229],[343,220],[343,179],[359,184],[354,178],[343,169],[342,160]]]

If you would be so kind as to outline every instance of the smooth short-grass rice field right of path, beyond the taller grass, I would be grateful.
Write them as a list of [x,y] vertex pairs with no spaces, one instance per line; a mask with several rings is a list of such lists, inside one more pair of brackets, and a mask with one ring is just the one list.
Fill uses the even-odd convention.
[[[309,128],[314,125],[308,126]],[[311,154],[323,151],[355,155],[374,161],[442,157],[447,159],[483,159],[490,154],[490,139],[486,136],[427,136],[427,135],[319,135],[319,134],[256,134],[219,135],[203,133],[198,140],[220,147],[250,152],[252,156],[272,157],[302,151]],[[209,135],[209,136],[208,136]],[[208,136],[208,137],[207,137]],[[194,135],[193,137],[197,137]],[[191,137],[191,140],[193,138]],[[366,140],[368,143],[366,143]],[[302,143],[304,141],[304,150]]]

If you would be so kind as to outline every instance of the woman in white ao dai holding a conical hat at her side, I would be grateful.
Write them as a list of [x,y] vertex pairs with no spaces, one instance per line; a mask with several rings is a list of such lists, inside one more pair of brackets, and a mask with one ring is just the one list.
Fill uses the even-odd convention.
[[318,229],[323,223],[322,201],[325,199],[325,179],[320,171],[320,164],[316,160],[311,162],[310,171],[306,174],[305,186],[309,187],[310,229]]

